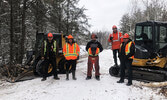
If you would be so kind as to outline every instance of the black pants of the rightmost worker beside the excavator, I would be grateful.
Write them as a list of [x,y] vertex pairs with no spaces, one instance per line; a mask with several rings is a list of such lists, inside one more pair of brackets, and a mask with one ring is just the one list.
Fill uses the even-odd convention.
[[132,83],[132,59],[129,60],[121,60],[121,68],[120,68],[120,77],[122,81],[124,81],[125,78],[125,69],[128,70],[128,83]]

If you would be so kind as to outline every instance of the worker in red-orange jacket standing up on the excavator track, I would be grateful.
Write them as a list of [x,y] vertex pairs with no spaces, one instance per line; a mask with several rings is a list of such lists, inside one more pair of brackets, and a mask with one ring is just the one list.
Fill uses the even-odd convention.
[[117,30],[117,27],[114,25],[112,27],[113,33],[109,35],[108,42],[111,42],[111,49],[113,50],[114,66],[118,66],[117,63],[117,53],[120,49],[120,44],[123,42],[122,33]]

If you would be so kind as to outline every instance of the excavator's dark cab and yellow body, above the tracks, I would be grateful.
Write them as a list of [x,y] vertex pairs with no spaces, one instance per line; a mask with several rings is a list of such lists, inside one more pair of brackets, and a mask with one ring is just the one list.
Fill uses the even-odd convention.
[[146,21],[136,24],[136,53],[133,66],[166,67],[167,23]]

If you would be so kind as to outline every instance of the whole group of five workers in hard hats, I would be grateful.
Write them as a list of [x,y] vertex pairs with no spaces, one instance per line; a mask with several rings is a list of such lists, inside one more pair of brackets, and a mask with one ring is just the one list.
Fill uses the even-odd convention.
[[[125,33],[122,35],[121,32],[117,30],[114,25],[112,27],[113,33],[109,35],[108,42],[112,44],[114,66],[118,66],[117,54],[120,59],[120,80],[117,83],[123,83],[125,77],[125,68],[128,68],[128,83],[127,85],[132,85],[132,61],[135,53],[135,44],[129,38],[129,35]],[[53,66],[54,79],[59,80],[57,75],[56,67],[56,55],[58,46],[55,40],[53,40],[53,34],[48,33],[48,39],[44,41],[42,45],[41,59],[47,61],[43,73],[42,81],[46,80],[46,73],[48,72],[47,64],[51,63]],[[87,77],[86,80],[92,78],[92,70],[95,68],[95,78],[100,80],[100,66],[99,66],[99,53],[103,51],[103,47],[100,42],[97,41],[97,35],[92,34],[91,40],[86,45],[86,51],[88,52],[88,65],[87,65]],[[66,59],[66,80],[69,80],[69,70],[72,71],[72,78],[76,80],[76,62],[79,58],[80,48],[78,44],[74,41],[72,35],[68,35],[67,42],[63,47],[63,54]],[[93,67],[93,65],[95,67]],[[70,68],[70,66],[72,66]]]

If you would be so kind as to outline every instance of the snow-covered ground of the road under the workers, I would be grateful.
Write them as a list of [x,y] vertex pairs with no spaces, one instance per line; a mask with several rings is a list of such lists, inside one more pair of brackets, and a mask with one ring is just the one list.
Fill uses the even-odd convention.
[[[81,47],[84,48],[84,47]],[[85,48],[84,48],[85,49]],[[81,49],[84,54],[85,50]],[[41,82],[41,78],[18,83],[0,81],[0,100],[164,100],[157,89],[141,86],[133,81],[132,86],[125,83],[118,84],[119,78],[109,75],[109,68],[113,65],[111,50],[100,53],[101,80],[94,78],[85,80],[87,71],[87,57],[80,58],[77,64],[77,80],[66,81],[65,74],[59,75],[60,80],[53,76]]]

